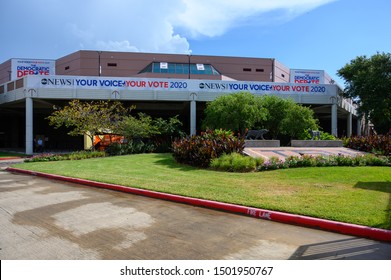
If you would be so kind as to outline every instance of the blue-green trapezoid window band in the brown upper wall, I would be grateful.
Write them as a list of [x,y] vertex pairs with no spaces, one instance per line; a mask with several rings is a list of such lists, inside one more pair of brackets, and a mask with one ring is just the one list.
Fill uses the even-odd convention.
[[171,63],[171,62],[153,62],[139,72],[141,73],[169,73],[169,74],[201,74],[201,75],[220,75],[210,64],[202,63]]

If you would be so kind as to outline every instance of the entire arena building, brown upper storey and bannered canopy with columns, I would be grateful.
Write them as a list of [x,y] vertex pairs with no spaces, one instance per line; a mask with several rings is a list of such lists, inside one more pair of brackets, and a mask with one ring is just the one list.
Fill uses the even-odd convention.
[[32,154],[41,138],[50,150],[82,149],[83,137],[46,120],[54,106],[72,99],[119,100],[154,117],[178,115],[195,134],[207,102],[239,91],[309,106],[333,135],[361,133],[355,106],[323,70],[289,69],[274,58],[78,51],[0,64],[0,148]]

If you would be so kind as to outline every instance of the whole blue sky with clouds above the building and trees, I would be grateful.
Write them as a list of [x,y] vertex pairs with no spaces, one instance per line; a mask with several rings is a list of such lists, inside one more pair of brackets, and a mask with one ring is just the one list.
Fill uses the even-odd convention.
[[391,52],[389,0],[0,0],[0,63],[78,50],[275,58],[338,69]]

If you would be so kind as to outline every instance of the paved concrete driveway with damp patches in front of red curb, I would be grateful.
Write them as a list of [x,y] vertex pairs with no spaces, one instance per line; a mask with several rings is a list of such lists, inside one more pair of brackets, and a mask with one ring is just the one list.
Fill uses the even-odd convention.
[[0,171],[0,259],[391,259],[391,244]]

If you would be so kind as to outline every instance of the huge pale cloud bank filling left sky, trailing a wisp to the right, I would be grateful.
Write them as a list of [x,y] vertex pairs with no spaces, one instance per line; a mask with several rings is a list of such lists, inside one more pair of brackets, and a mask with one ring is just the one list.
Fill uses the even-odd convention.
[[333,1],[0,0],[0,35],[12,38],[2,42],[0,61],[79,49],[191,53],[190,40],[200,36],[285,23]]

